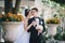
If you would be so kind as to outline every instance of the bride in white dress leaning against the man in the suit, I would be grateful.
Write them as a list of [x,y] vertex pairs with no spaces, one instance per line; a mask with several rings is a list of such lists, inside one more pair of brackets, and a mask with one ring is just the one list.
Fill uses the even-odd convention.
[[28,19],[31,17],[31,11],[26,9],[25,10],[25,19],[24,19],[24,32],[20,35],[20,38],[14,43],[29,43],[30,32],[27,30],[32,26],[32,23],[28,25]]

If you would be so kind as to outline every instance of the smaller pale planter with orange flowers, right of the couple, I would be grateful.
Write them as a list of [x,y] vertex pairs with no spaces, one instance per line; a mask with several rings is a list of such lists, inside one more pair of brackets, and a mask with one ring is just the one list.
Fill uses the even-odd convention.
[[60,25],[60,19],[58,18],[51,18],[47,19],[47,26],[48,26],[48,34],[49,35],[54,35],[56,34],[56,27]]

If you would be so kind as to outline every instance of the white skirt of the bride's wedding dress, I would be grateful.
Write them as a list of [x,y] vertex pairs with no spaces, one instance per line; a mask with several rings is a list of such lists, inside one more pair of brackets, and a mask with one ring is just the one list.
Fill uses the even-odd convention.
[[[23,30],[24,28],[22,28]],[[23,30],[22,34],[14,41],[14,43],[29,43],[30,33]]]

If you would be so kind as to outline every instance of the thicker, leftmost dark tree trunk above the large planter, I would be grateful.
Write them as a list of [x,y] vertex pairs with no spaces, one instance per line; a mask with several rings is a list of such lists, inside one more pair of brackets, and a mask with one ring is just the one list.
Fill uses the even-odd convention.
[[12,8],[13,8],[13,4],[12,4],[12,0],[4,0],[4,13],[12,13]]

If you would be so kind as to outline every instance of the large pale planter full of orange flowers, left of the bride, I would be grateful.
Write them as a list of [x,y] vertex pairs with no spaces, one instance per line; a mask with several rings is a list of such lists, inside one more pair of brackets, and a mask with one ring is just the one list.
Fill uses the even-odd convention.
[[0,24],[2,25],[5,32],[4,39],[9,41],[15,41],[22,33],[23,20],[23,15],[16,15],[12,13],[0,15]]

